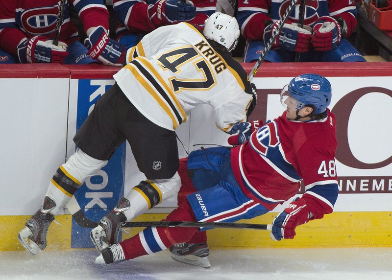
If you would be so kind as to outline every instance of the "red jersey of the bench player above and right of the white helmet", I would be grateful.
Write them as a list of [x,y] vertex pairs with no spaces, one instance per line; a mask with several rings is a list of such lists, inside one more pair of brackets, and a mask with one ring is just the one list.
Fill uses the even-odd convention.
[[[265,21],[282,19],[292,0],[239,0],[238,23],[245,39],[263,40]],[[289,22],[297,22],[299,2],[289,16]],[[352,0],[306,0],[304,24],[312,26],[320,17],[340,17],[347,23],[346,37],[357,26],[357,10]]]

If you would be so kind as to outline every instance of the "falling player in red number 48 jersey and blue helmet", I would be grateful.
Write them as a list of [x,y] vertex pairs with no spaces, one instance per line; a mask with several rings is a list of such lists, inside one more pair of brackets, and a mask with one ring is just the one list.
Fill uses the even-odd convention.
[[[283,88],[281,102],[286,111],[280,117],[235,125],[229,137],[235,147],[201,149],[181,160],[178,208],[166,221],[250,219],[290,200],[301,181],[305,193],[275,217],[272,239],[294,238],[297,226],[333,211],[338,181],[335,116],[327,108],[331,85],[317,74],[299,75]],[[175,260],[209,267],[204,230],[149,227],[103,249],[96,262],[108,264],[170,248]]]

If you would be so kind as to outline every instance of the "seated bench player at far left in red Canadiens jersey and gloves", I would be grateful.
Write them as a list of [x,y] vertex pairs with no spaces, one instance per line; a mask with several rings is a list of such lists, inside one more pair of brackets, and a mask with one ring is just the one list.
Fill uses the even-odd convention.
[[[88,36],[85,46],[70,20],[70,3]],[[59,4],[60,0],[0,1],[0,55],[8,58],[4,62],[122,66],[125,46],[109,38],[103,0],[66,0],[59,43],[53,45]]]

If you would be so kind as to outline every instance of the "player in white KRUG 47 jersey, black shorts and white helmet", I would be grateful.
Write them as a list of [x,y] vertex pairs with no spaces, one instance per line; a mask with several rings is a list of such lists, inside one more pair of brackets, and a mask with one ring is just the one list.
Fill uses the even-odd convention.
[[175,129],[198,104],[215,111],[217,127],[231,127],[256,105],[254,86],[229,51],[238,41],[237,21],[214,13],[203,33],[189,23],[160,27],[128,50],[126,65],[77,131],[76,152],[49,183],[41,208],[18,238],[35,255],[47,245],[49,224],[83,182],[127,140],[146,180],[108,212],[91,238],[98,251],[118,243],[123,222],[174,196],[180,187]]

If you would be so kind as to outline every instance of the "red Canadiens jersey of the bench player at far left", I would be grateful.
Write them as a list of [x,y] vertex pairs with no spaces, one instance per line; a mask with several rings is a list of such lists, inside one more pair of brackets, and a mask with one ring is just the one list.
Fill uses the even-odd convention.
[[[16,55],[19,43],[35,35],[53,38],[60,0],[0,1],[0,47]],[[73,3],[84,30],[102,25],[109,28],[109,12],[103,0],[66,0],[60,41],[78,40],[77,29],[70,19],[69,3]]]

